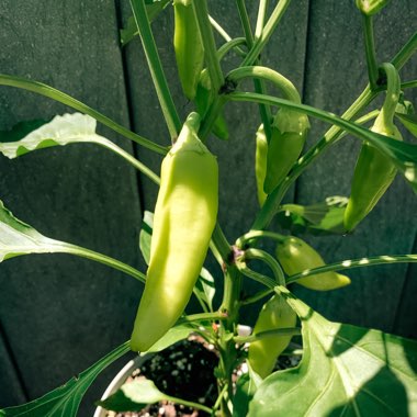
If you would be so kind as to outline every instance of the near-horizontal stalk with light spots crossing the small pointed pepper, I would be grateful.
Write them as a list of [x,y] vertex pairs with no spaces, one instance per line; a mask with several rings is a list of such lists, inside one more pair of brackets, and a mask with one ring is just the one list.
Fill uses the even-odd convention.
[[380,255],[369,258],[358,258],[358,259],[348,259],[341,262],[328,263],[324,267],[312,268],[306,271],[302,271],[294,275],[291,275],[286,279],[286,283],[291,284],[296,282],[301,278],[315,275],[316,273],[328,272],[328,271],[341,271],[352,268],[363,268],[371,267],[375,264],[386,264],[386,263],[412,263],[417,262],[417,255]]

